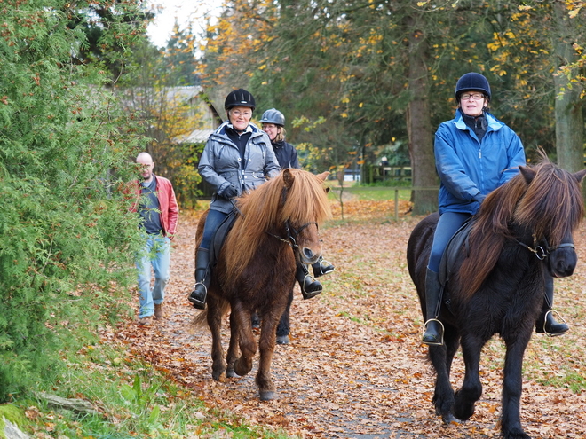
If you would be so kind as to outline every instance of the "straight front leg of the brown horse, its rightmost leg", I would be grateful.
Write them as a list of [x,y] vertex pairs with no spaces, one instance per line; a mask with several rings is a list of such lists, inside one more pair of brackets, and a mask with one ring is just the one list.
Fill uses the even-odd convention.
[[271,379],[271,362],[273,361],[277,318],[282,315],[284,309],[285,303],[282,303],[281,306],[275,306],[273,310],[266,312],[262,317],[260,340],[258,341],[260,360],[256,379],[258,393],[262,401],[274,399],[276,396],[273,380]]

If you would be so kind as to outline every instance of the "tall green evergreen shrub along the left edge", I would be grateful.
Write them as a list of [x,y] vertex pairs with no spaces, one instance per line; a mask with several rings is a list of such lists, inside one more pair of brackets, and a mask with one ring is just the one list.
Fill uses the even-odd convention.
[[[99,15],[72,7],[0,4],[0,402],[50,386],[62,349],[93,339],[134,279],[138,220],[117,188],[141,139],[102,62],[76,58],[86,39],[72,23]],[[130,35],[131,3],[109,7],[107,25],[92,24],[104,49]]]

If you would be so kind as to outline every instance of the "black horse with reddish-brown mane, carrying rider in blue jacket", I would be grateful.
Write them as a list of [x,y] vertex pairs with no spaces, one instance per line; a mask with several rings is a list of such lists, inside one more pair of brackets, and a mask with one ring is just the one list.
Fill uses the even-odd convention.
[[[480,351],[495,334],[506,347],[501,433],[526,439],[519,404],[522,365],[544,294],[544,270],[570,276],[577,261],[573,233],[583,216],[582,178],[545,157],[491,192],[459,241],[444,285],[439,319],[444,344],[430,346],[436,372],[433,404],[445,423],[469,419],[482,394]],[[425,270],[438,214],[426,216],[408,240],[408,269],[425,317]],[[454,252],[450,252],[454,254]],[[449,381],[455,352],[462,345],[465,376],[454,393]]]

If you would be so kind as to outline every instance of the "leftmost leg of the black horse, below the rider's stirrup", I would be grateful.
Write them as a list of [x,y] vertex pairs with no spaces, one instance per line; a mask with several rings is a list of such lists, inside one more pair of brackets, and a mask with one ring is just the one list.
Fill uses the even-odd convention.
[[458,338],[455,329],[446,326],[444,331],[444,345],[429,347],[430,359],[436,372],[435,391],[432,402],[435,405],[435,413],[441,416],[441,419],[446,424],[450,424],[456,420],[452,415],[454,388],[452,388],[450,383],[449,373],[457,346]]

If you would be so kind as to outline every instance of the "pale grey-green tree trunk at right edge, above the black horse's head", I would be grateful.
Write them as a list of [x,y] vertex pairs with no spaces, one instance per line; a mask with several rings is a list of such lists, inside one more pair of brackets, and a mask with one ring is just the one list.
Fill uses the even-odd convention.
[[576,61],[577,54],[572,47],[575,38],[572,35],[572,22],[567,16],[566,4],[557,0],[554,5],[556,33],[553,36],[553,50],[556,74],[553,80],[556,86],[556,152],[558,166],[570,172],[584,168],[584,119],[580,100],[580,85],[570,82],[566,74],[559,72],[559,67]]

